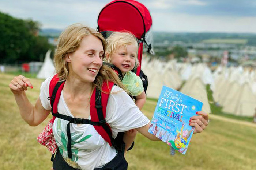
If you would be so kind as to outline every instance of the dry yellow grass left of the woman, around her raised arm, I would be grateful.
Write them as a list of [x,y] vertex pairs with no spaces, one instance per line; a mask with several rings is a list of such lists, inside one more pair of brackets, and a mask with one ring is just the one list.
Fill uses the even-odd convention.
[[[0,74],[0,169],[50,170],[51,154],[37,142],[38,134],[50,117],[37,127],[30,127],[21,118],[8,84],[12,75]],[[31,79],[34,88],[27,91],[31,103],[39,96],[42,80]]]

